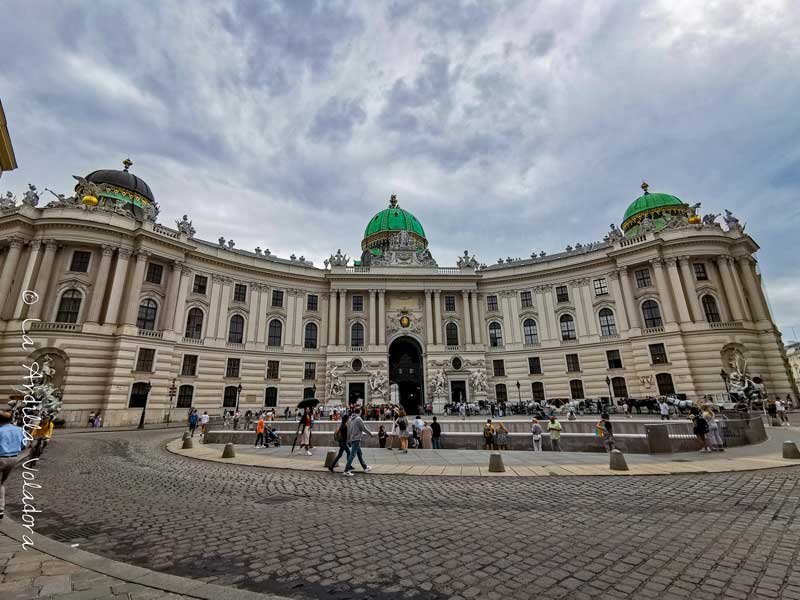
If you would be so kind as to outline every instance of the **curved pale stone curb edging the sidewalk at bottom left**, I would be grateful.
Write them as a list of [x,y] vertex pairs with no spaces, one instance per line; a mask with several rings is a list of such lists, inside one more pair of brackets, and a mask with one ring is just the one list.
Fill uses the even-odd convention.
[[181,594],[202,600],[291,600],[286,596],[274,594],[259,594],[239,588],[225,587],[214,583],[205,583],[195,579],[187,579],[176,575],[168,575],[151,571],[142,567],[128,565],[110,558],[103,558],[85,550],[73,548],[61,542],[51,540],[38,533],[31,534],[17,522],[10,521],[8,515],[0,521],[0,534],[5,535],[22,544],[22,536],[26,535],[33,540],[34,550],[47,554],[53,558],[63,560],[89,571],[107,575],[128,583],[134,583],[151,589]]

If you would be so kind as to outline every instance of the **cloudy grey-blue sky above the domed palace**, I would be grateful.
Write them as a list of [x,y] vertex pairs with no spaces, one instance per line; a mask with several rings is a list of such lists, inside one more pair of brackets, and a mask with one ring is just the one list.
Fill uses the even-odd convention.
[[791,338],[799,30],[792,0],[11,0],[0,188],[130,156],[161,222],[318,265],[397,193],[451,265],[600,239],[646,179],[747,223]]

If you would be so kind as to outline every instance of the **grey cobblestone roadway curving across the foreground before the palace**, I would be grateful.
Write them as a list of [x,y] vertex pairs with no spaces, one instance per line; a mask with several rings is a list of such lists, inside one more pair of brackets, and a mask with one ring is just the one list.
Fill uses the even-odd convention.
[[[301,598],[800,599],[800,469],[436,478],[167,454],[175,432],[56,438],[38,532],[115,560]],[[9,511],[21,477],[9,483]]]

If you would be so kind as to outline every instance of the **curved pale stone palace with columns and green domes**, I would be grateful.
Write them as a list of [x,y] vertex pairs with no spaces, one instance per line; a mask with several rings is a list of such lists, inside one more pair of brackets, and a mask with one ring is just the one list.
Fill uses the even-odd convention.
[[[360,259],[250,252],[157,223],[129,171],[76,177],[47,203],[0,207],[0,384],[49,356],[63,417],[147,422],[188,407],[282,412],[327,404],[615,398],[725,390],[743,358],[769,393],[794,392],[754,254],[730,213],[700,218],[645,193],[601,242],[439,266],[420,221],[389,206]],[[26,290],[35,294],[24,294]],[[33,343],[22,349],[23,334]],[[29,348],[30,349],[30,348]],[[7,398],[6,398],[7,399]]]

